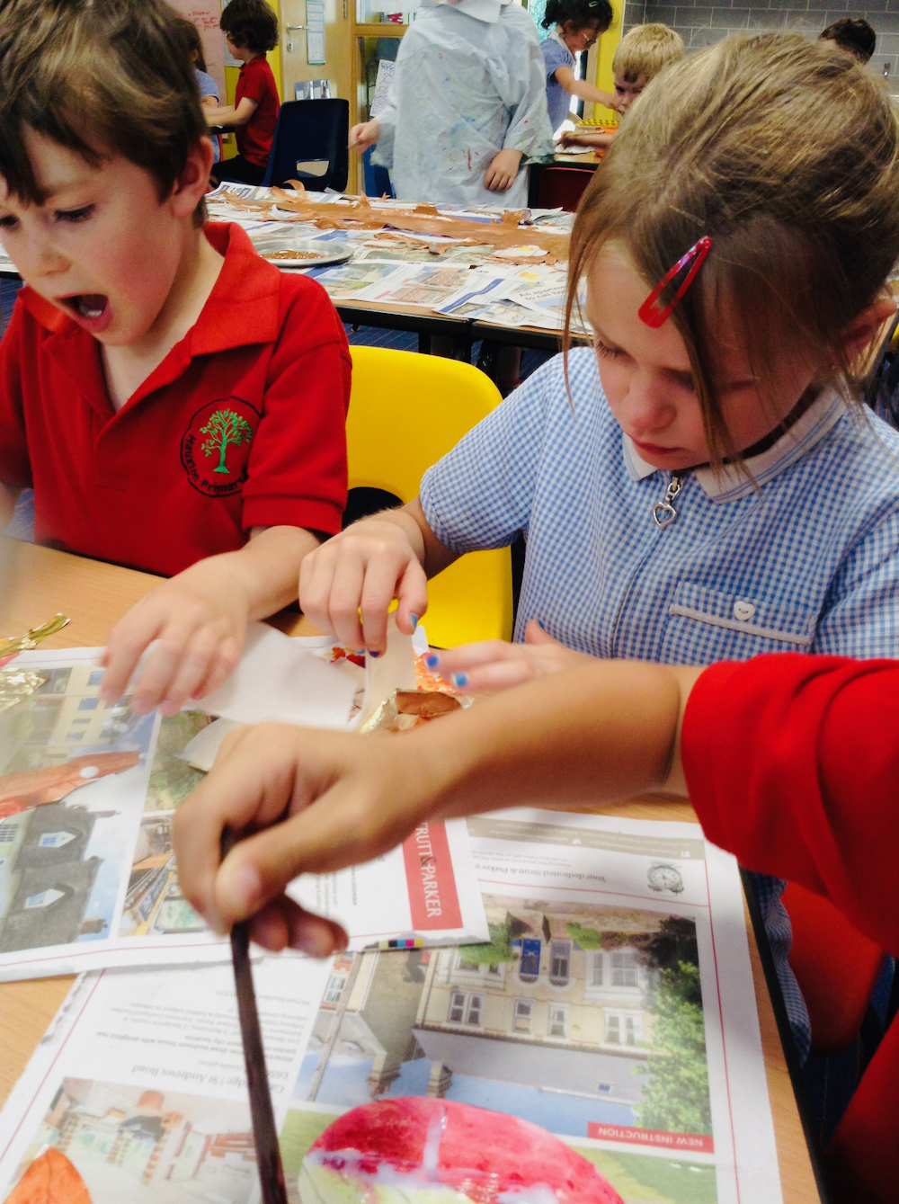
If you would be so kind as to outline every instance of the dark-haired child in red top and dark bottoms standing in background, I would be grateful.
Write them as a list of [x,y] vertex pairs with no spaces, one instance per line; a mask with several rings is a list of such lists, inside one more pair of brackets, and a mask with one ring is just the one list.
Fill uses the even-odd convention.
[[231,55],[243,63],[233,106],[205,111],[209,125],[235,128],[237,154],[212,173],[219,183],[232,179],[261,184],[278,124],[280,100],[266,52],[278,45],[278,18],[266,0],[231,0],[219,22]]

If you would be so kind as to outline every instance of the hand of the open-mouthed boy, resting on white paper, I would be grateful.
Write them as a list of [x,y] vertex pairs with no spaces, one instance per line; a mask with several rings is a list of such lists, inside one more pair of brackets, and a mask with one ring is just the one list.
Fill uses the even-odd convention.
[[118,702],[141,654],[154,641],[131,696],[131,710],[147,715],[159,707],[173,715],[188,698],[217,690],[243,651],[249,604],[235,580],[205,582],[188,569],[148,594],[116,624],[103,654],[100,697]]

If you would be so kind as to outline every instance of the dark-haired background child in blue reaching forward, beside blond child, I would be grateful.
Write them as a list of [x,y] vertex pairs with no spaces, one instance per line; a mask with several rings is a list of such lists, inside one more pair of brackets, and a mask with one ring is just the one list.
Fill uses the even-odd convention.
[[611,18],[609,0],[549,0],[543,28],[556,28],[540,42],[540,52],[546,67],[546,106],[554,130],[568,117],[572,96],[615,107],[615,99],[608,92],[586,79],[574,78],[574,55],[589,49],[609,28]]

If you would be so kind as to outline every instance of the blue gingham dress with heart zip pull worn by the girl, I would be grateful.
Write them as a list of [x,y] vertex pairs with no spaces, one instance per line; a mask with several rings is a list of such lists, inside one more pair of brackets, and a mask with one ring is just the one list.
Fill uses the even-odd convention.
[[[676,665],[759,653],[899,653],[899,432],[824,393],[747,466],[672,474],[640,460],[596,358],[545,364],[425,473],[421,503],[456,551],[527,539],[515,638],[531,619],[593,656]],[[785,884],[756,875],[800,1056],[809,1015],[787,956]]]

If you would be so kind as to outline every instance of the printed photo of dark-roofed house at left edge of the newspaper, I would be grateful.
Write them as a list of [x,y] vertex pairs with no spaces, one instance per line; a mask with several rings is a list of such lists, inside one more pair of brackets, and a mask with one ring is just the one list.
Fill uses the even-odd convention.
[[0,954],[111,934],[153,739],[152,716],[101,702],[102,669],[41,674],[0,714]]

